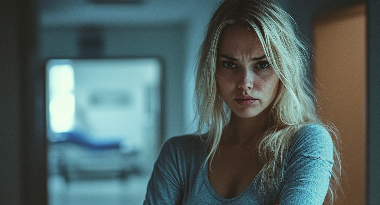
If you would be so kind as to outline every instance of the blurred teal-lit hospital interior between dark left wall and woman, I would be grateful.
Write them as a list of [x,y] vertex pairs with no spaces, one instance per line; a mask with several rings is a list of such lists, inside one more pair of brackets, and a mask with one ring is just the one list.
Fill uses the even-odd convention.
[[196,131],[196,52],[215,2],[39,2],[49,204],[142,204],[163,141]]

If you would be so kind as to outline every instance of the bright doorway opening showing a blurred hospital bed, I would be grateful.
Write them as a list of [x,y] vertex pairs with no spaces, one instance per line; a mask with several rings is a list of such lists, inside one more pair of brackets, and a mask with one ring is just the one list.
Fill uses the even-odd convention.
[[49,205],[137,205],[160,143],[157,58],[46,64]]

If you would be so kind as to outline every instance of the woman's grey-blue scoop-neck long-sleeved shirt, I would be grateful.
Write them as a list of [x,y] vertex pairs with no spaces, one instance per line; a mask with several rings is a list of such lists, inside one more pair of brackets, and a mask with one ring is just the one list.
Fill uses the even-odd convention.
[[276,200],[280,205],[321,205],[334,163],[328,131],[309,124],[293,137],[279,190],[263,199],[252,182],[239,196],[223,199],[209,183],[207,166],[203,166],[206,156],[207,144],[199,136],[179,136],[166,141],[154,165],[144,205],[272,205]]

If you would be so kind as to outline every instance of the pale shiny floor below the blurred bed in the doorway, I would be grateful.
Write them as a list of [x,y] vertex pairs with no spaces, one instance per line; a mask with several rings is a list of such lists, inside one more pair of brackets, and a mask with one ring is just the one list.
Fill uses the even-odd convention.
[[48,180],[49,205],[142,205],[150,175],[131,175],[125,181],[75,180],[60,175]]

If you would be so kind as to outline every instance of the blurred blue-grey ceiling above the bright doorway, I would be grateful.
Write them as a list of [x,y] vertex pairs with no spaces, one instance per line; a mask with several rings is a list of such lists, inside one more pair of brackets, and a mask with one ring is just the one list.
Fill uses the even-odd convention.
[[177,23],[190,20],[199,13],[210,14],[212,5],[218,0],[134,0],[132,2],[139,3],[40,0],[39,23],[42,27]]

